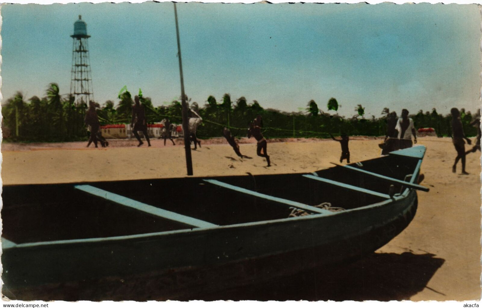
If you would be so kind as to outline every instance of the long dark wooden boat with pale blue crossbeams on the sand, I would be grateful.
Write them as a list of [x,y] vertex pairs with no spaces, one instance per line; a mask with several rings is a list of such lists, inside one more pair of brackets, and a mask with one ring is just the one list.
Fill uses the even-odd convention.
[[359,258],[414,217],[416,190],[428,191],[417,183],[424,154],[416,146],[308,174],[3,186],[4,294],[139,299],[119,285],[150,281],[142,298],[182,298],[206,281]]

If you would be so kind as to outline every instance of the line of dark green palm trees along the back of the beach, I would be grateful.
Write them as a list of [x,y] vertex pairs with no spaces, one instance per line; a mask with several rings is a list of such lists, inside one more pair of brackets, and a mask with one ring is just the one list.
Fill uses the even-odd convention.
[[[85,141],[88,138],[84,124],[87,102],[75,102],[70,95],[59,94],[56,83],[49,84],[45,96],[33,96],[25,99],[17,92],[2,106],[2,129],[6,141],[21,142],[64,142]],[[141,103],[145,106],[149,123],[160,122],[168,118],[170,122],[181,123],[182,105],[179,100],[154,107],[149,97],[139,90]],[[130,123],[132,94],[126,89],[118,96],[118,103],[107,101],[99,105],[97,115],[101,125]],[[320,109],[318,103],[311,100],[306,107],[298,108],[298,112],[283,112],[271,108],[263,108],[257,101],[248,103],[244,96],[232,100],[225,93],[218,102],[214,96],[209,96],[202,106],[187,99],[192,110],[202,118],[203,123],[198,128],[199,138],[222,136],[223,127],[228,127],[235,136],[243,137],[249,123],[257,116],[263,116],[264,135],[267,138],[328,138],[346,133],[350,136],[384,136],[387,129],[388,108],[381,110],[380,116],[365,118],[365,108],[357,105],[354,116],[338,115],[338,104],[331,98],[326,104],[327,112]],[[400,116],[398,111],[398,115]],[[422,110],[414,115],[415,128],[434,128],[437,135],[450,135],[452,117],[442,115],[435,108],[431,112]],[[474,116],[461,109],[461,118],[467,136],[475,136],[477,130],[470,126]]]

